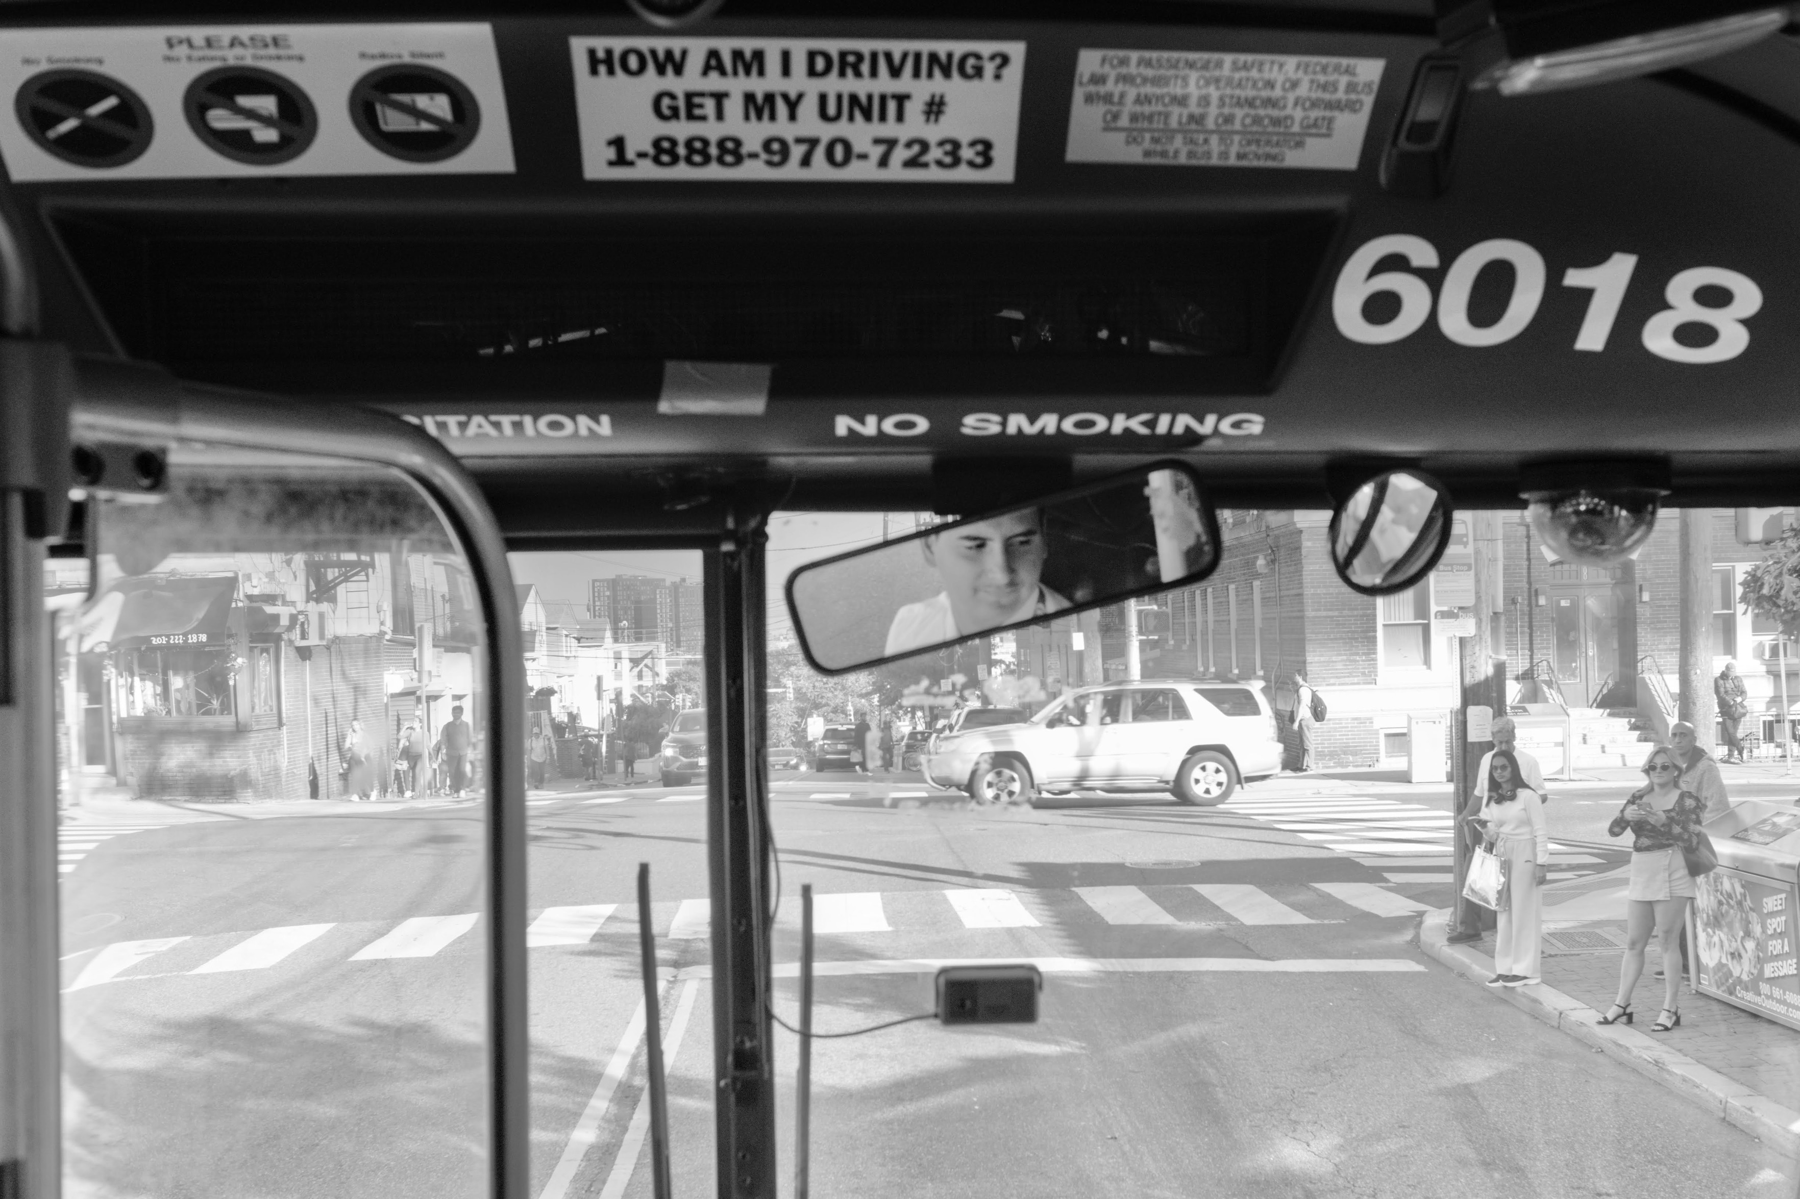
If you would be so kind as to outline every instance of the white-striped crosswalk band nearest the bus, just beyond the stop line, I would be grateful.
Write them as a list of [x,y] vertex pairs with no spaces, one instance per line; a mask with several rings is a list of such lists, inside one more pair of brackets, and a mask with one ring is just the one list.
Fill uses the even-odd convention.
[[[814,933],[945,937],[983,929],[1051,928],[1060,933],[1105,928],[1228,928],[1343,924],[1357,917],[1413,917],[1431,904],[1375,883],[1310,883],[1273,888],[1246,883],[1166,886],[1076,886],[1067,890],[945,888],[851,892],[814,897]],[[410,917],[398,924],[290,924],[254,933],[157,937],[99,946],[70,955],[65,990],[176,974],[245,974],[281,965],[335,965],[473,955],[481,913]],[[781,902],[778,931],[799,933],[799,899]],[[659,940],[704,942],[711,937],[711,901],[652,904]],[[526,946],[607,946],[635,953],[635,904],[572,904],[531,913]]]

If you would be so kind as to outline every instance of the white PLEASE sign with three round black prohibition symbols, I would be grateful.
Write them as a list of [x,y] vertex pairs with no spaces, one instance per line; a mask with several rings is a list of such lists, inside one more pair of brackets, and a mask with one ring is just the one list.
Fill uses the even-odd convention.
[[0,97],[22,183],[513,169],[479,23],[9,29]]

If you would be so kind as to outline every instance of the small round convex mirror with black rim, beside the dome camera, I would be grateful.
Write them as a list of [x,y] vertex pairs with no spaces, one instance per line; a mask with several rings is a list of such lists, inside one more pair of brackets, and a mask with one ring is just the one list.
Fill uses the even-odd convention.
[[1332,514],[1332,564],[1363,595],[1393,595],[1417,584],[1451,536],[1444,485],[1418,471],[1386,471],[1364,482]]

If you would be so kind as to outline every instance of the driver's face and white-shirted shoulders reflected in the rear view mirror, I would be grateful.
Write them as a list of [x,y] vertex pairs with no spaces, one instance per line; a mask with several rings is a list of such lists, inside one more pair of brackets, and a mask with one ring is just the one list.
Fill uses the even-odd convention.
[[907,604],[887,626],[887,654],[1062,611],[1069,600],[1039,582],[1049,546],[1039,509],[947,528],[920,541],[943,591]]

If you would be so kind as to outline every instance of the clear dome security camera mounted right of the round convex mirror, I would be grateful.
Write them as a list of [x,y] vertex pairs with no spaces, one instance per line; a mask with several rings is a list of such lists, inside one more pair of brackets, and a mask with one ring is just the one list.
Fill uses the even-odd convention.
[[1523,475],[1532,530],[1579,566],[1606,566],[1643,548],[1669,494],[1663,464],[1557,464]]

